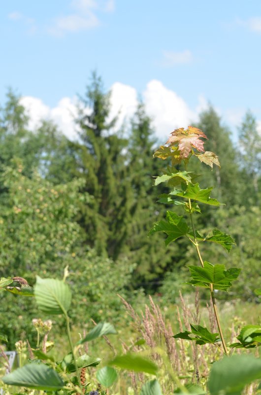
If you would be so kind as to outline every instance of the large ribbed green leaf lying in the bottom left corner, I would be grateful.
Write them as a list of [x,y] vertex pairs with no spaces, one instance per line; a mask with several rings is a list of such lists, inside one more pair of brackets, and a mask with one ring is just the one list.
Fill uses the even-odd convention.
[[2,378],[4,384],[33,388],[35,390],[57,391],[64,387],[62,378],[44,363],[29,363],[19,367]]

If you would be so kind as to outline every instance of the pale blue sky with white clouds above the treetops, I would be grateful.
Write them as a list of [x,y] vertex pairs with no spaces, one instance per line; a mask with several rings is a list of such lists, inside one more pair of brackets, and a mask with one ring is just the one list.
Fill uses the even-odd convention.
[[169,124],[172,99],[174,123],[179,111],[181,121],[193,118],[207,101],[234,129],[247,108],[261,119],[258,0],[9,0],[0,37],[1,103],[11,86],[49,115],[59,112],[97,69],[106,89],[118,83],[118,105],[135,90],[152,115],[157,103],[168,106]]

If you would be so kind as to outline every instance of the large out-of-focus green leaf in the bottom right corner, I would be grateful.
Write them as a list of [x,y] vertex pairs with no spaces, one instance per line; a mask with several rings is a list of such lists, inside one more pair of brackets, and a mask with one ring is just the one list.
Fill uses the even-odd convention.
[[261,379],[261,359],[233,355],[213,363],[208,380],[210,395],[240,395],[247,384]]

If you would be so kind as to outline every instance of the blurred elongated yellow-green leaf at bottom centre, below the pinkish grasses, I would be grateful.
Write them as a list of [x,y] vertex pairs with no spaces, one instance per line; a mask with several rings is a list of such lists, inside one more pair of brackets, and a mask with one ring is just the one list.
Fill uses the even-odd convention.
[[134,354],[118,356],[109,364],[121,369],[133,370],[134,372],[156,374],[158,371],[158,367],[154,362]]

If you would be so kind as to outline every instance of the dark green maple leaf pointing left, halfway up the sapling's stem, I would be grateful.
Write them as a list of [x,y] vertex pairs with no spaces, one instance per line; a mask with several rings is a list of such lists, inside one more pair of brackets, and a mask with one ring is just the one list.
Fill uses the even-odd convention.
[[155,232],[164,232],[167,234],[165,245],[167,246],[171,241],[184,236],[190,230],[182,215],[177,215],[171,211],[166,212],[166,220],[154,223],[153,228],[149,232],[149,236]]

